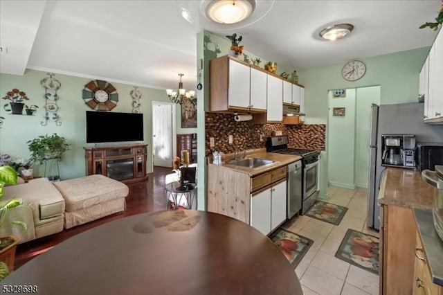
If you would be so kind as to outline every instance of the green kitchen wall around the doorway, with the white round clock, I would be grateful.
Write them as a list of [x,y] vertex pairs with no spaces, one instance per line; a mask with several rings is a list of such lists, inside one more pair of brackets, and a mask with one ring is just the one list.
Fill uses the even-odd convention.
[[[307,114],[305,123],[327,123],[327,92],[331,89],[380,85],[380,104],[382,105],[416,102],[418,75],[428,51],[429,47],[423,47],[360,59],[365,62],[367,71],[363,78],[355,82],[347,82],[341,77],[341,69],[345,62],[299,71],[300,84],[305,86],[305,109]],[[327,141],[326,145],[328,145]],[[326,197],[327,157],[327,152],[322,152],[320,158],[321,197]]]

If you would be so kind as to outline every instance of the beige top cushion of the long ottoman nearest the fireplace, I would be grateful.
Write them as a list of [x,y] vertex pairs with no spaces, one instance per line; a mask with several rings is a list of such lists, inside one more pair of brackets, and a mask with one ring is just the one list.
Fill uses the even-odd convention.
[[62,193],[67,212],[124,198],[129,193],[126,184],[104,175],[68,179],[54,182],[53,185]]

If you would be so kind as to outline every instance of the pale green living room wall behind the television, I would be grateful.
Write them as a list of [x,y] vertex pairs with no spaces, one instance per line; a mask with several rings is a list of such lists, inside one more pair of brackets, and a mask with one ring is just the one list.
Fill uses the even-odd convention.
[[[93,80],[91,78],[81,78],[71,75],[56,74],[62,84],[58,90],[60,100],[58,100],[61,126],[56,126],[53,122],[42,126],[40,122],[44,117],[44,88],[40,85],[40,80],[46,78],[46,72],[27,69],[24,75],[0,74],[0,94],[5,96],[7,91],[18,88],[25,91],[30,100],[29,105],[38,105],[39,109],[35,116],[11,115],[3,109],[7,102],[1,100],[0,116],[6,118],[0,128],[0,153],[10,154],[12,157],[29,157],[28,145],[26,141],[39,135],[57,133],[64,136],[71,143],[71,150],[66,152],[60,162],[60,175],[63,179],[82,177],[85,175],[84,150],[86,145],[86,119],[85,111],[90,110],[82,100],[82,89],[84,84]],[[113,111],[132,112],[132,98],[129,91],[133,85],[111,82],[116,87],[119,101]],[[150,89],[138,87],[141,96],[141,112],[144,114],[145,123],[145,143],[148,144],[147,172],[152,172],[152,112],[151,100],[168,101],[165,91],[161,89]],[[179,118],[177,118],[178,120]],[[105,126],[103,126],[105,127]],[[44,175],[44,167],[35,167],[37,175]]]

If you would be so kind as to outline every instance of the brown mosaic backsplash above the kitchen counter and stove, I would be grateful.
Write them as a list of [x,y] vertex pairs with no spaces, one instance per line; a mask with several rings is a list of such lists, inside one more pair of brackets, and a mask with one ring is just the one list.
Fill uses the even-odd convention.
[[[282,125],[266,124],[254,125],[248,122],[235,122],[232,114],[206,113],[206,154],[215,150],[225,154],[236,150],[265,147],[266,137],[271,136],[273,130],[282,130],[289,135],[289,146],[315,150],[325,150],[326,125],[303,124]],[[263,141],[260,141],[260,134]],[[233,143],[229,144],[229,135],[233,136]],[[215,147],[210,147],[209,138],[215,138]]]

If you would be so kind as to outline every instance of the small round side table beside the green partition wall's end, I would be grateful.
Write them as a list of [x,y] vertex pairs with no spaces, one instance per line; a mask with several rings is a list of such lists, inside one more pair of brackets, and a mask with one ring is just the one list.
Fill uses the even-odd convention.
[[168,210],[170,210],[170,208],[177,210],[179,209],[179,206],[186,209],[192,209],[195,199],[195,185],[186,184],[182,186],[179,181],[174,181],[167,184],[165,188],[166,198],[168,200]]

